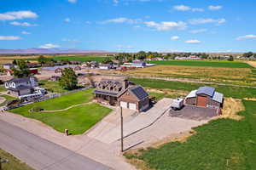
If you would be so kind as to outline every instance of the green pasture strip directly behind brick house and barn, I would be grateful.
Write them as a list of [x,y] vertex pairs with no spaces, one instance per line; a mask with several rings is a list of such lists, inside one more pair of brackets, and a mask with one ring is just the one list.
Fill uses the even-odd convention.
[[216,88],[218,92],[223,93],[224,97],[232,97],[235,99],[256,98],[256,88],[240,88],[240,87],[213,85],[213,84],[201,84],[201,83],[194,83],[194,82],[172,82],[172,81],[165,81],[165,80],[140,79],[140,78],[130,78],[130,80],[131,82],[140,84],[145,88],[191,91],[201,86],[211,86],[213,88]]

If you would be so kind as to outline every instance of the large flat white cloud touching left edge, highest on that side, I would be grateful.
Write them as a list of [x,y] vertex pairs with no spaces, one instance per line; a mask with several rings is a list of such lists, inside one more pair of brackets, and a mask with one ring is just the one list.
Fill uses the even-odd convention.
[[32,11],[14,11],[0,14],[0,20],[22,20],[22,19],[36,19],[38,14]]

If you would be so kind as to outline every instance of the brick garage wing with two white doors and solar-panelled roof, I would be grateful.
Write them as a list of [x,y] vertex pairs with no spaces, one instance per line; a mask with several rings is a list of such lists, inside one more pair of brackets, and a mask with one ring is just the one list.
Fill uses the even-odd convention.
[[119,105],[133,111],[145,111],[149,107],[149,95],[141,86],[131,86],[119,97]]

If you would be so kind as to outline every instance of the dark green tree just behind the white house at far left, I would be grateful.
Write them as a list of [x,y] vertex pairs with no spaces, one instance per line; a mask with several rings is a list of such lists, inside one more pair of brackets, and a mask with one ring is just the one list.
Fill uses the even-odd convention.
[[22,77],[30,77],[31,72],[29,71],[28,66],[26,65],[26,61],[23,59],[17,60],[17,68],[12,67],[14,77],[22,78]]

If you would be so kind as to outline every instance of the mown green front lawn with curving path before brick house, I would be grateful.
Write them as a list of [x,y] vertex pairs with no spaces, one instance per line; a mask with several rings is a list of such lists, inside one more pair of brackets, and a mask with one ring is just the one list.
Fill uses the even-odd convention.
[[[93,94],[92,89],[89,89],[67,94],[59,98],[25,105],[11,110],[11,112],[37,119],[61,133],[63,133],[65,129],[68,129],[70,133],[81,134],[90,129],[96,122],[102,120],[102,118],[111,111],[111,109],[98,104],[79,105],[88,103],[91,99],[93,99]],[[56,111],[66,109],[72,105],[78,106],[65,111]],[[29,110],[35,106],[50,112],[30,112]]]

